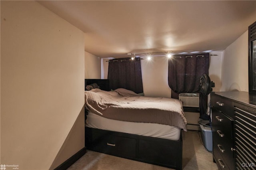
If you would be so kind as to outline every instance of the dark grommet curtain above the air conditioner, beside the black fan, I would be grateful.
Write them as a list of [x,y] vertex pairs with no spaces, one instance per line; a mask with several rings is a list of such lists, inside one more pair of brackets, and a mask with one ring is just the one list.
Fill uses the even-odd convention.
[[[178,93],[200,93],[200,77],[209,74],[209,53],[176,55],[168,62],[168,84],[172,97]],[[200,117],[206,113],[207,96],[200,94]]]

